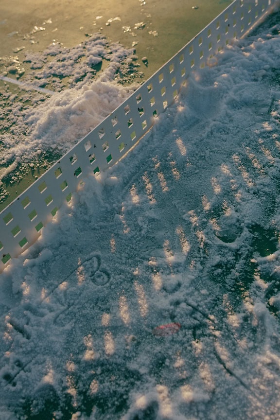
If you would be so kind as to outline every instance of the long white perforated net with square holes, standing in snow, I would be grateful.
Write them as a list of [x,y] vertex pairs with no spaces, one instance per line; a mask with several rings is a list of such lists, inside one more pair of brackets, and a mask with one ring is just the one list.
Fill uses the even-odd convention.
[[241,38],[279,0],[236,0],[175,54],[122,105],[0,213],[0,272],[33,244],[83,178],[115,164],[146,136],[157,115],[174,102],[191,71],[209,64],[233,38]]

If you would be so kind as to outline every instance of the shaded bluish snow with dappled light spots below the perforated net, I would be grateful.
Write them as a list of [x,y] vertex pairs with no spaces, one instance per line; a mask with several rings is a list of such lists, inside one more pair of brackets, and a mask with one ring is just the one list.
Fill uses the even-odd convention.
[[279,18],[1,274],[1,419],[279,419]]

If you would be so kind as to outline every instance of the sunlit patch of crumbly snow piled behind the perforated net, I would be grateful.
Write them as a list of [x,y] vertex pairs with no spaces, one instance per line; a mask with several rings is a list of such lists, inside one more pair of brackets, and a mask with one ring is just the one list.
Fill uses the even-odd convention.
[[[136,89],[134,49],[109,43],[101,34],[73,48],[53,44],[42,53],[25,54],[32,71],[16,81],[18,90],[3,76],[0,202],[9,196],[5,183],[16,184],[30,173],[30,165],[50,167]],[[13,57],[2,61],[4,74],[11,66],[17,69]]]

